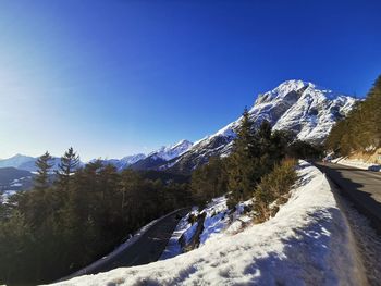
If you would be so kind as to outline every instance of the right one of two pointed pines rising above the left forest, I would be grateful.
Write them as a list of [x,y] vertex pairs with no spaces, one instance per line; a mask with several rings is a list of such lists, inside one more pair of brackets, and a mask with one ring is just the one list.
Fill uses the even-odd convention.
[[58,179],[57,184],[64,190],[69,189],[69,184],[71,181],[71,175],[77,170],[79,165],[79,156],[74,152],[73,147],[61,157],[61,163],[59,164],[59,170],[56,172]]

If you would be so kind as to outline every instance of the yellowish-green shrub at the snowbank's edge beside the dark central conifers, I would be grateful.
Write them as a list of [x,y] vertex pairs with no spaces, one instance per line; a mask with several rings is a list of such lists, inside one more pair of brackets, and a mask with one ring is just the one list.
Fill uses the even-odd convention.
[[288,191],[297,178],[296,163],[295,159],[284,159],[261,178],[255,190],[256,222],[274,216],[279,204],[287,201]]

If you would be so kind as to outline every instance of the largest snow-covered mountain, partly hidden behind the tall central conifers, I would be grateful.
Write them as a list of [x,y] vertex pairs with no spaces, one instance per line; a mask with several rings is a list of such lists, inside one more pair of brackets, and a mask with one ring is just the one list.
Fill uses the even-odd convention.
[[[249,110],[249,116],[255,126],[267,120],[274,129],[292,130],[300,140],[319,144],[327,138],[333,124],[352,110],[355,102],[356,99],[352,97],[320,88],[312,83],[287,80],[259,95]],[[187,152],[161,169],[188,173],[207,162],[211,156],[228,154],[241,120],[195,142]]]

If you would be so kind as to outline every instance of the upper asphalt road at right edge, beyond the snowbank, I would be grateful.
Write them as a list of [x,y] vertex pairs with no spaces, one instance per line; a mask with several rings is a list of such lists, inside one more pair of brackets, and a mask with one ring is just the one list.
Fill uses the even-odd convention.
[[332,163],[315,163],[381,233],[381,173]]

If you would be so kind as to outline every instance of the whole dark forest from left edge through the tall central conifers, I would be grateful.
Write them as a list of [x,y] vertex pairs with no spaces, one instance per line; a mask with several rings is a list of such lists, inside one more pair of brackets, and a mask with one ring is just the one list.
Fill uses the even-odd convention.
[[50,283],[103,257],[150,221],[221,195],[232,209],[255,197],[257,222],[265,221],[274,214],[269,206],[296,178],[296,161],[290,158],[319,156],[320,147],[272,130],[267,121],[255,129],[247,110],[231,154],[210,158],[190,179],[156,171],[116,172],[101,161],[79,166],[73,148],[52,172],[46,152],[36,163],[33,189],[0,204],[0,283]]

